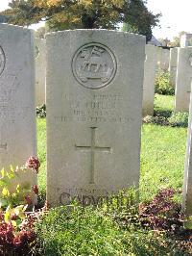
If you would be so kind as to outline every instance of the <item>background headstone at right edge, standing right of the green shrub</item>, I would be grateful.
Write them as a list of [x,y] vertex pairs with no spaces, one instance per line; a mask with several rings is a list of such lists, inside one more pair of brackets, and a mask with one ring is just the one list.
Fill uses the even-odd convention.
[[180,48],[178,55],[175,112],[188,112],[192,78],[192,47]]

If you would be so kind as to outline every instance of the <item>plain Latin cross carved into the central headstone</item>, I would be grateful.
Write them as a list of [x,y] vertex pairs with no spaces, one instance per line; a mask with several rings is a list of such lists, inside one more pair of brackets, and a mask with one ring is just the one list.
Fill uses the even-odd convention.
[[85,145],[75,145],[76,149],[82,150],[82,151],[89,151],[91,155],[91,164],[90,164],[90,184],[95,183],[95,152],[111,152],[111,147],[105,147],[105,146],[98,146],[96,145],[96,129],[97,127],[90,127],[91,129],[91,145],[85,146]]

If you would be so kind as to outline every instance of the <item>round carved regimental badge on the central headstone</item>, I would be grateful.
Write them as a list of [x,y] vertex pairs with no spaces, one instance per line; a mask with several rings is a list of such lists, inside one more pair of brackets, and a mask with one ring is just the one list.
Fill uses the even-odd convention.
[[100,43],[88,43],[75,54],[72,63],[77,81],[88,89],[106,87],[114,78],[117,64],[114,54]]

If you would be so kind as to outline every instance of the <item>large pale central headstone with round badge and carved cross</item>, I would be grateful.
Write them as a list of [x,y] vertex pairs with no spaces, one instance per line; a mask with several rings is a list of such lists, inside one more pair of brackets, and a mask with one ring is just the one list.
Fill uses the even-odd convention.
[[47,53],[48,201],[138,186],[145,38],[65,31],[47,36]]

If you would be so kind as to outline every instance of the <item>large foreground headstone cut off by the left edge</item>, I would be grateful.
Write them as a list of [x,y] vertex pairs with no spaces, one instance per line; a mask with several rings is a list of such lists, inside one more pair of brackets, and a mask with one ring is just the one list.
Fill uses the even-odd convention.
[[[34,70],[32,32],[0,24],[0,169],[36,156]],[[33,174],[23,179],[36,183]]]

